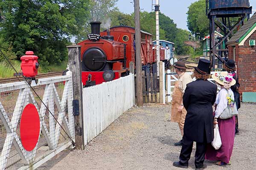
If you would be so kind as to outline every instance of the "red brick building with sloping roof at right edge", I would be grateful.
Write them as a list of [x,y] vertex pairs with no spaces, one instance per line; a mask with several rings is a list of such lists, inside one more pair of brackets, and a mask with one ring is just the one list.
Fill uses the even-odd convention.
[[226,43],[237,65],[243,102],[256,102],[256,13]]

